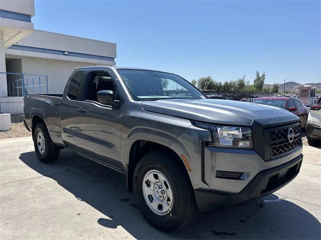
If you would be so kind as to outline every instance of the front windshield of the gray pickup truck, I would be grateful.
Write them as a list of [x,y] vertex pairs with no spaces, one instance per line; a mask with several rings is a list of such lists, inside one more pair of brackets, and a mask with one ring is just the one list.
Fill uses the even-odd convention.
[[136,69],[118,69],[136,101],[206,98],[198,89],[175,74]]

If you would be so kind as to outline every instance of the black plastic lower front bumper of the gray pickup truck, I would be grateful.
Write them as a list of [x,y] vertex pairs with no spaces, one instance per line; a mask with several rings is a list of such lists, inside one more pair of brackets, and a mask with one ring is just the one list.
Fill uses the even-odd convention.
[[300,154],[294,159],[265,169],[257,173],[252,180],[236,194],[224,191],[195,189],[195,197],[200,211],[208,212],[219,206],[238,205],[247,200],[270,194],[290,181],[299,173],[303,155]]

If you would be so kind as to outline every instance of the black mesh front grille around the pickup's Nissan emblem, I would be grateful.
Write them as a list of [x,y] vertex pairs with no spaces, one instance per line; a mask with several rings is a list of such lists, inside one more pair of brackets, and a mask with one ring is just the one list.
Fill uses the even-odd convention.
[[[301,146],[301,128],[298,123],[270,129],[269,132],[271,158],[280,157]],[[288,137],[289,133],[293,135]]]

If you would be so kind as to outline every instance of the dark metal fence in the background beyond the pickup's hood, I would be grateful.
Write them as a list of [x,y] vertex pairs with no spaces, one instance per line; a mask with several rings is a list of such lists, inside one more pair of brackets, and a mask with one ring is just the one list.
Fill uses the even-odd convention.
[[222,96],[230,100],[252,102],[253,99],[258,97],[270,97],[273,93],[256,93],[253,91],[216,91],[216,90],[203,90],[206,95]]

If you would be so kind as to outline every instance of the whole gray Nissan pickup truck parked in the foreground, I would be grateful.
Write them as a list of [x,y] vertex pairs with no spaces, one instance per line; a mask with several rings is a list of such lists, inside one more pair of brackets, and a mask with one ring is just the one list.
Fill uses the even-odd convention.
[[209,99],[166,72],[79,68],[63,95],[28,94],[24,111],[40,161],[68,148],[123,173],[142,215],[164,231],[270,194],[302,163],[297,116]]

